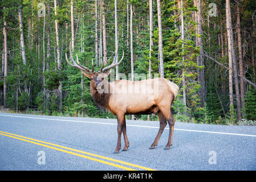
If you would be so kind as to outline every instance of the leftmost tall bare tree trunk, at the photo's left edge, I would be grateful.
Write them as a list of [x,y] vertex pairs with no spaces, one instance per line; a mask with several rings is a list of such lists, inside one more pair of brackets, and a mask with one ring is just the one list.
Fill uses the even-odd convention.
[[[3,9],[5,10],[5,7],[3,7]],[[6,32],[6,20],[5,20],[5,16],[3,16],[3,39],[5,42],[5,73],[4,73],[4,77],[3,77],[3,108],[7,108],[7,103],[6,103],[6,77],[7,77],[7,32]]]

